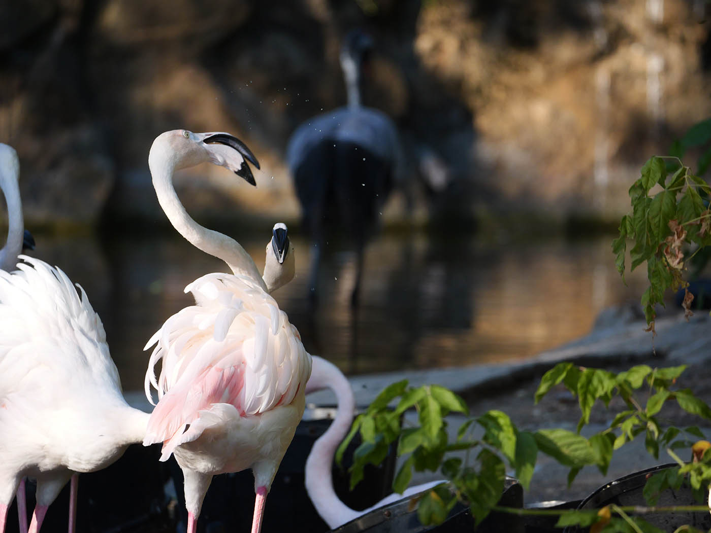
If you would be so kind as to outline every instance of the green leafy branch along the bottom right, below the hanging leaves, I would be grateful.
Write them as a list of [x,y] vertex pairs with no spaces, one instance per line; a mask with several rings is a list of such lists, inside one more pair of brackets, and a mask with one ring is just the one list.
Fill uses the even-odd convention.
[[[658,458],[660,449],[667,450],[677,459],[675,450],[692,449],[695,441],[704,438],[700,429],[695,426],[664,428],[659,419],[666,402],[676,402],[690,414],[711,419],[711,409],[702,400],[690,390],[676,386],[685,368],[653,369],[640,365],[615,374],[560,363],[543,375],[535,401],[542,400],[547,392],[562,384],[579,402],[581,417],[577,432],[560,428],[524,431],[518,429],[506,413],[490,410],[479,417],[466,418],[453,440],[447,432],[447,415],[468,415],[464,400],[439,385],[412,388],[403,380],[385,388],[368,410],[358,415],[351,432],[339,447],[336,459],[341,461],[348,443],[360,433],[363,442],[355,450],[350,468],[352,488],[363,478],[365,465],[383,461],[390,444],[397,441],[397,456],[407,458],[393,481],[395,492],[402,493],[407,488],[413,471],[439,471],[449,480],[420,498],[419,520],[423,524],[441,523],[460,501],[469,506],[476,524],[479,524],[491,510],[499,510],[496,504],[501,498],[507,469],[515,473],[523,488],[529,488],[539,452],[570,468],[570,485],[584,466],[594,465],[606,473],[614,450],[640,434],[645,434],[646,449],[655,458]],[[621,398],[626,408],[616,413],[609,427],[589,438],[579,434],[589,423],[598,400],[607,407],[613,397]],[[403,414],[412,408],[417,412],[417,423],[407,424]],[[453,452],[459,454],[451,456]],[[663,471],[651,476],[644,493],[648,502],[656,502],[661,491],[678,488],[687,478],[698,495],[702,495],[703,488],[711,483],[711,453],[709,457],[700,457],[699,461],[689,464],[679,459],[678,471]],[[639,517],[627,515],[626,511],[614,506],[601,511],[602,514],[587,510],[558,511],[562,513],[558,525],[594,527],[594,524],[604,522],[599,531],[602,526],[613,528],[605,531],[656,531]],[[635,511],[636,514],[643,512],[640,508]]]

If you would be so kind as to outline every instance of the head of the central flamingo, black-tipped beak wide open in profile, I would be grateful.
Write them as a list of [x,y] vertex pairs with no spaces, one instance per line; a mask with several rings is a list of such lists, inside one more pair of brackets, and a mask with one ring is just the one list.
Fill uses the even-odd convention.
[[257,185],[247,162],[259,168],[260,163],[252,151],[240,139],[224,132],[193,133],[188,130],[173,130],[161,133],[151,146],[151,160],[160,155],[173,162],[173,168],[193,167],[200,163],[213,163],[228,168],[250,185]]

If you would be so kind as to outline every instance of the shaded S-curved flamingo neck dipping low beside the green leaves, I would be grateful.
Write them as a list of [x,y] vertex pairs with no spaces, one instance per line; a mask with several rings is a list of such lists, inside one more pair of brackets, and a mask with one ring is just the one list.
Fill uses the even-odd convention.
[[351,384],[348,383],[341,370],[338,370],[338,367],[319,356],[311,356],[311,360],[313,366],[311,378],[306,383],[306,394],[330,388],[333,394],[336,395],[336,401],[338,402],[336,418],[333,419],[326,432],[314,442],[314,446],[311,447],[309,452],[309,457],[306,458],[304,480],[306,492],[309,493],[311,502],[314,503],[316,511],[324,519],[324,522],[328,524],[328,527],[336,529],[336,527],[346,524],[346,522],[351,522],[351,520],[355,520],[370,511],[445,483],[444,480],[437,480],[408,487],[402,494],[392,493],[387,495],[383,500],[362,511],[351,509],[351,507],[343,503],[336,495],[336,491],[333,490],[331,464],[333,463],[333,454],[336,453],[338,445],[341,444],[343,437],[351,429],[353,412],[355,411],[355,397],[353,396]]

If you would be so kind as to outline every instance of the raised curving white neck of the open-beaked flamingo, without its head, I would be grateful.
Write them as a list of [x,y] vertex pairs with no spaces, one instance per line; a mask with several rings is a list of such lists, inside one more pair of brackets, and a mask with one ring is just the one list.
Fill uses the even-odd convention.
[[154,145],[149,154],[148,165],[158,202],[173,227],[198,250],[225,261],[232,273],[247,275],[266,290],[267,287],[255,262],[240,243],[219,231],[201,226],[188,214],[173,187],[173,172],[175,172],[177,159],[174,154],[165,152],[166,150],[161,148],[156,150]]

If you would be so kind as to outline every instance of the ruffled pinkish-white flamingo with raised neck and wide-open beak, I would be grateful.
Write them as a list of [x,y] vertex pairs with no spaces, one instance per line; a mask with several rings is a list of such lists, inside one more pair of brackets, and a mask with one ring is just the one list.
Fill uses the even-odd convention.
[[[161,442],[161,461],[173,454],[181,467],[190,533],[196,532],[212,477],[251,468],[252,533],[258,533],[267,493],[304,412],[311,356],[269,295],[291,279],[285,274],[287,262],[279,263],[288,251],[285,226],[283,233],[274,226],[262,278],[237,241],[200,226],[180,203],[173,172],[204,162],[227,167],[255,185],[247,162],[257,168],[259,163],[228,133],[168,131],[149,153],[156,196],[173,227],[196,248],[225,261],[232,274],[211,273],[188,285],[196,304],[173,314],[146,344],[146,349],[156,345],[146,396],[153,402],[152,385],[159,401],[144,444]],[[272,268],[276,274],[269,272]],[[156,379],[154,367],[161,360]]]

